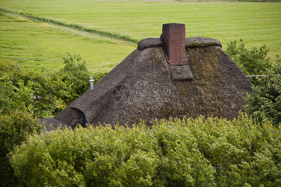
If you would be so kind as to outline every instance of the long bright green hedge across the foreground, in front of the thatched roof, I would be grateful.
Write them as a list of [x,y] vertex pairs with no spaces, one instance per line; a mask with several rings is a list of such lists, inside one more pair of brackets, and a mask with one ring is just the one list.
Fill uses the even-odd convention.
[[27,186],[280,186],[280,132],[242,114],[59,129],[30,137],[11,163]]

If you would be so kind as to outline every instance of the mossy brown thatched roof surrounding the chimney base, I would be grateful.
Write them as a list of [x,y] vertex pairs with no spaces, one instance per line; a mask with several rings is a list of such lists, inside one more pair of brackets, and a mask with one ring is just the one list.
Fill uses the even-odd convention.
[[[155,40],[152,39],[153,42]],[[185,52],[191,78],[172,79],[163,49],[135,49],[55,118],[67,124],[131,125],[140,118],[213,115],[232,119],[243,111],[243,96],[251,82],[221,49],[217,40],[186,38]]]

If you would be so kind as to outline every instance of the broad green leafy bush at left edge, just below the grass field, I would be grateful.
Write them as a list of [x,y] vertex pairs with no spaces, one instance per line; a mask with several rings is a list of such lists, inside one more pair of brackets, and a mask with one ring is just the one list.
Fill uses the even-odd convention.
[[49,117],[67,95],[61,80],[51,80],[46,71],[20,67],[13,61],[0,60],[0,110],[18,109],[39,118]]

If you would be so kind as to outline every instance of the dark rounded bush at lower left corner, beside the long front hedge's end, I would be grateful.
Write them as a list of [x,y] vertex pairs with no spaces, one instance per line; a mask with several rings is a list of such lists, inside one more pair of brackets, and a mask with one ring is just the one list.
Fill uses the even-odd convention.
[[18,186],[7,153],[26,141],[29,135],[40,134],[41,129],[38,119],[26,112],[15,110],[9,114],[0,114],[0,165],[4,174],[0,176],[0,186]]

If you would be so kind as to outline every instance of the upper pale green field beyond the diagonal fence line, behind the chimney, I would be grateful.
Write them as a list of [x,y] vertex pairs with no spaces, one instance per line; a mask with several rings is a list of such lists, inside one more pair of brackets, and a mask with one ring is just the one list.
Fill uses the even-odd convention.
[[281,53],[280,2],[173,2],[96,0],[0,0],[0,7],[134,38],[159,37],[163,23],[185,23],[186,37],[221,41],[243,38]]

